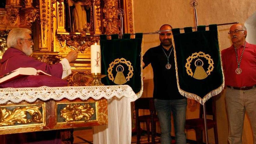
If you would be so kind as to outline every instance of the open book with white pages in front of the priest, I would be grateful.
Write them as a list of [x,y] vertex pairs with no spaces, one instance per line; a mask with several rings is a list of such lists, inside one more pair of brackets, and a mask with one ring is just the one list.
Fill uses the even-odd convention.
[[12,72],[4,74],[0,77],[0,83],[15,80],[19,77],[26,76],[26,75],[49,75],[42,70],[36,70],[33,67],[20,67]]

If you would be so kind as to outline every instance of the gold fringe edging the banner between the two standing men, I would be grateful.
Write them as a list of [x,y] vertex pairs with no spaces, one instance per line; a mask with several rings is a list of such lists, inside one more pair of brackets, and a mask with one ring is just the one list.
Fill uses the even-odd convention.
[[[218,30],[217,30],[218,31]],[[178,86],[178,90],[179,93],[181,95],[183,95],[186,98],[189,99],[194,99],[197,102],[199,102],[200,104],[204,104],[208,99],[210,99],[211,97],[218,95],[219,93],[221,93],[221,91],[224,89],[225,86],[225,79],[224,79],[224,73],[223,73],[223,67],[222,67],[222,60],[221,60],[221,45],[220,45],[220,41],[219,41],[219,31],[218,31],[218,45],[219,45],[219,56],[220,56],[220,61],[221,61],[221,70],[222,70],[222,77],[223,77],[223,82],[221,84],[220,87],[218,87],[215,90],[212,90],[211,92],[209,92],[207,95],[205,95],[203,98],[199,97],[196,94],[193,93],[189,93],[186,92],[184,90],[182,90],[179,86],[179,77],[178,77],[178,68],[177,68],[177,58],[176,58],[176,50],[175,50],[175,43],[174,43],[174,38],[172,39],[173,42],[173,50],[174,50],[174,60],[175,60],[175,69],[176,69],[176,78],[177,78],[177,86]]]

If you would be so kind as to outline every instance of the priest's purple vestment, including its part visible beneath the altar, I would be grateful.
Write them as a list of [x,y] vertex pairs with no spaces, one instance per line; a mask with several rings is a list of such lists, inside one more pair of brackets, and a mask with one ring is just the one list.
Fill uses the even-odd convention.
[[[33,67],[36,70],[42,70],[54,77],[62,77],[62,64],[48,65],[44,62],[35,60],[26,56],[22,51],[15,48],[8,48],[3,54],[0,62],[0,75],[7,74],[20,67]],[[4,144],[61,144],[60,131],[38,131],[31,133],[4,135],[0,143]]]

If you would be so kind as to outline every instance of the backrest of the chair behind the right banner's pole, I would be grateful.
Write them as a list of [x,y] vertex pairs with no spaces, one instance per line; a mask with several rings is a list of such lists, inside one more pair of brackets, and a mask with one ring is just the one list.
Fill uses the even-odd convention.
[[[206,109],[206,115],[212,115],[213,120],[216,121],[216,96],[211,97],[210,99],[205,102],[205,109]],[[199,112],[199,117],[203,118],[203,106],[200,105],[200,112]]]

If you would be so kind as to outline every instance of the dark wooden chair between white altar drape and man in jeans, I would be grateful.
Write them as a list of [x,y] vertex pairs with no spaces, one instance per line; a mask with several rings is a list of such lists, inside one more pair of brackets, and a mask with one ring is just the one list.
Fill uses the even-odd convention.
[[[155,143],[155,134],[156,134],[156,122],[158,121],[153,97],[139,98],[134,102],[135,113],[136,113],[136,128],[137,128],[137,144],[140,143],[141,138],[141,122],[146,122],[147,127],[147,141],[150,141],[150,123],[151,123],[151,139],[152,144]],[[139,109],[148,109],[150,115],[141,115],[139,116]]]

